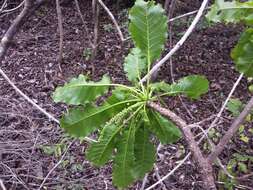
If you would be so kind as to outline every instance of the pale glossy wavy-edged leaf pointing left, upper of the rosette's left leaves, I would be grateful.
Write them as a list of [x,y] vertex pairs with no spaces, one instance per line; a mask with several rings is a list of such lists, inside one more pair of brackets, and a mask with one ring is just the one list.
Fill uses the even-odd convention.
[[109,84],[110,79],[106,75],[98,82],[87,81],[86,76],[79,75],[63,87],[58,87],[53,94],[53,99],[55,102],[69,105],[85,105],[107,93]]

